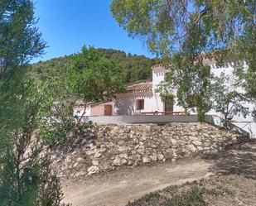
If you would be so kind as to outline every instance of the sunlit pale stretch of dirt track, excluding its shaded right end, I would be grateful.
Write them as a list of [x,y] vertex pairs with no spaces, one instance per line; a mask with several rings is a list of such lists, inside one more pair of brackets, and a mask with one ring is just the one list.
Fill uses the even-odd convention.
[[89,180],[65,180],[65,202],[73,206],[123,205],[170,184],[199,180],[211,174],[205,160],[158,163],[123,169]]

